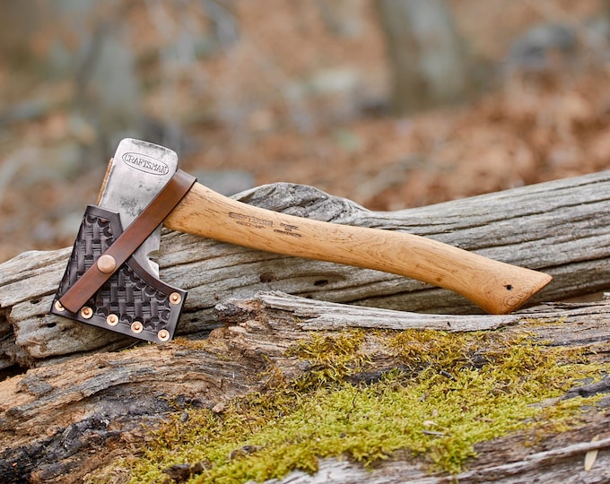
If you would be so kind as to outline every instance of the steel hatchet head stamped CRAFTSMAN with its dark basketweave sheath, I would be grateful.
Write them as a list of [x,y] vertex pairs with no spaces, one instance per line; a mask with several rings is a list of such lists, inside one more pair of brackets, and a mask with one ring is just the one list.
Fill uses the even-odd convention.
[[[131,237],[127,229],[153,205],[177,170],[178,155],[174,151],[134,139],[118,144],[98,204],[87,207],[83,216],[51,313],[147,341],[164,342],[173,337],[187,293],[159,280],[155,259],[161,243],[162,217],[158,224],[153,220],[153,227],[139,236],[143,241],[137,242],[137,248],[133,246],[125,262],[117,264],[109,254],[112,249],[116,252],[123,234],[123,241]],[[67,294],[71,289],[74,293],[76,283],[84,280],[87,272],[104,272],[107,275],[102,277],[107,279],[90,289],[91,294],[81,290],[84,296],[80,296],[77,306],[67,304]],[[82,286],[80,281],[79,288]],[[81,306],[82,301],[86,302]]]

